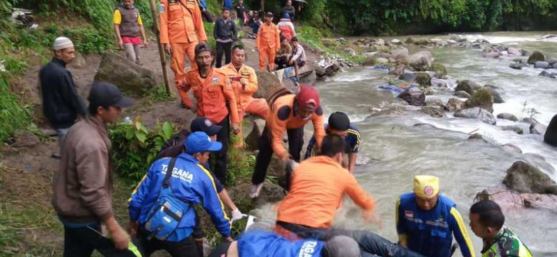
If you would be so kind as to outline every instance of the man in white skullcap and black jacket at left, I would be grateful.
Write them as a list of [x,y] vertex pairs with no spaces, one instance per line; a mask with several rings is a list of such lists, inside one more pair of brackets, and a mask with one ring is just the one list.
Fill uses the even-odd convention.
[[42,94],[42,112],[58,135],[58,153],[52,154],[60,158],[65,134],[77,119],[77,115],[85,116],[87,110],[77,95],[72,74],[65,65],[74,60],[74,44],[69,38],[56,38],[54,57],[39,72],[40,91]]

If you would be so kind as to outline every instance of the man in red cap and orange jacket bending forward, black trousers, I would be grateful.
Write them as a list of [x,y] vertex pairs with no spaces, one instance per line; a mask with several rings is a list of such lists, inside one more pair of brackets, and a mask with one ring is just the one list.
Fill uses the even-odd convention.
[[[298,94],[278,97],[269,104],[265,129],[259,138],[259,153],[256,167],[251,176],[249,197],[256,198],[265,181],[267,167],[273,153],[283,161],[289,158],[300,161],[301,147],[304,145],[304,126],[311,120],[317,145],[325,136],[323,109],[319,104],[319,93],[311,85],[300,85]],[[288,151],[283,145],[283,133],[288,134]],[[288,181],[287,173],[287,181]]]

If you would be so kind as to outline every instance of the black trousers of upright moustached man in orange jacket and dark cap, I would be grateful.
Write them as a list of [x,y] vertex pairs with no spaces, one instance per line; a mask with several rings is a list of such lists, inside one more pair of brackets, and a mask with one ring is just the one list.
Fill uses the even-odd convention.
[[219,122],[217,125],[222,126],[221,131],[217,134],[217,142],[221,142],[221,151],[212,153],[214,156],[214,176],[217,176],[219,182],[226,186],[226,173],[228,169],[228,142],[230,141],[230,115]]

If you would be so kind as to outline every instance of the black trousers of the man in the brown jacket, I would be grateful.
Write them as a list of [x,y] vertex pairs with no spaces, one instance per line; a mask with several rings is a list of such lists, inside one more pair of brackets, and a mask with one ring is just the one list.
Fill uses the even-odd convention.
[[135,257],[132,251],[120,251],[112,240],[102,236],[100,224],[74,229],[64,227],[64,257],[89,257],[93,250],[107,257]]

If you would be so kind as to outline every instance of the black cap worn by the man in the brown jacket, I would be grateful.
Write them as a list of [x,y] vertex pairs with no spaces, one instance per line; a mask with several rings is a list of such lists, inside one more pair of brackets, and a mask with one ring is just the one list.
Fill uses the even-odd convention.
[[94,82],[87,99],[91,105],[102,107],[130,107],[134,103],[130,97],[124,97],[116,85],[107,82]]

